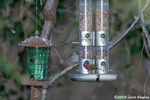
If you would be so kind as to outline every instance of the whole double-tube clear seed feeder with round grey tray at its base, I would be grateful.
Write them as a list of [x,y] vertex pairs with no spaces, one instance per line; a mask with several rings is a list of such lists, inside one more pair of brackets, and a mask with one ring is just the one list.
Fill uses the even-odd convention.
[[74,81],[110,81],[109,0],[79,0],[80,65]]

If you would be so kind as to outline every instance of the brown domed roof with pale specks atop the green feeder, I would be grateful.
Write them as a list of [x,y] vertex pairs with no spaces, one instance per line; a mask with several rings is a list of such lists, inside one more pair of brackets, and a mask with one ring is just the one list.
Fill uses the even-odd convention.
[[50,47],[49,40],[39,36],[30,37],[22,41],[20,46],[23,47]]

